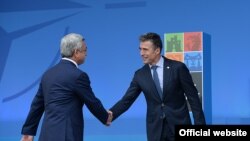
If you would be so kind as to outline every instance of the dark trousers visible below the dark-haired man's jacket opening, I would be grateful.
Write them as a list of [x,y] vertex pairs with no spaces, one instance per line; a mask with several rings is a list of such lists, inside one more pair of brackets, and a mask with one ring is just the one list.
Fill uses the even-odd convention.
[[166,118],[163,119],[161,141],[174,141],[174,131],[171,131]]

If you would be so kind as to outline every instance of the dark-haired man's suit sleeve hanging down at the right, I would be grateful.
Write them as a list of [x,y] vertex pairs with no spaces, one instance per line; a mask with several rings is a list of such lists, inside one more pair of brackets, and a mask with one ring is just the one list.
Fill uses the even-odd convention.
[[194,117],[194,124],[206,124],[205,116],[202,110],[198,91],[194,86],[191,74],[185,64],[182,64],[179,70],[182,88],[187,96],[188,102]]

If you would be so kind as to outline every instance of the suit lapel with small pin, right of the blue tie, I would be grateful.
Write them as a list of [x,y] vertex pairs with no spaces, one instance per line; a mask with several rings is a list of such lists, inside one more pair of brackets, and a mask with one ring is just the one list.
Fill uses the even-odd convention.
[[164,65],[163,65],[163,99],[166,97],[167,94],[167,86],[169,85],[169,79],[172,72],[172,66],[168,59],[164,58]]

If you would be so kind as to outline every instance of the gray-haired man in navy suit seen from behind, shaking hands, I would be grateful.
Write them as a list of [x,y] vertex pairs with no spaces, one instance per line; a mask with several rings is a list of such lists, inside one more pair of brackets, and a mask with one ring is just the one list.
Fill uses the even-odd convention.
[[82,141],[84,104],[103,124],[110,124],[112,114],[95,97],[88,75],[78,69],[87,56],[84,40],[75,33],[62,38],[62,60],[43,74],[21,141],[33,140],[43,113],[39,141]]

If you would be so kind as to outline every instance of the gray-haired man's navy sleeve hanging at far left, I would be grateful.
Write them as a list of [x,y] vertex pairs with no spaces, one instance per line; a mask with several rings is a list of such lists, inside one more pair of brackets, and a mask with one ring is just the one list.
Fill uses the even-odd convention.
[[44,112],[44,97],[42,92],[42,84],[40,83],[36,96],[34,97],[28,117],[22,127],[23,135],[36,135],[39,121]]

